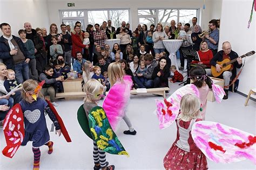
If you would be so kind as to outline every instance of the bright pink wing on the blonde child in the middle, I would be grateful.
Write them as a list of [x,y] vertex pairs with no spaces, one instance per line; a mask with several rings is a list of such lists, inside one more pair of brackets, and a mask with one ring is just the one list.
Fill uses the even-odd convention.
[[117,81],[110,88],[103,102],[103,109],[113,130],[116,130],[117,125],[125,116],[126,105],[130,100],[131,86],[132,80],[131,77],[129,79],[129,76],[126,76],[123,82]]

